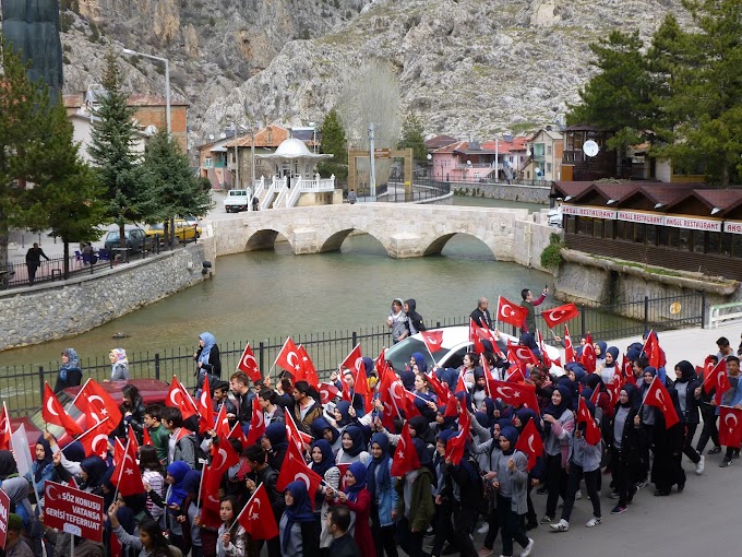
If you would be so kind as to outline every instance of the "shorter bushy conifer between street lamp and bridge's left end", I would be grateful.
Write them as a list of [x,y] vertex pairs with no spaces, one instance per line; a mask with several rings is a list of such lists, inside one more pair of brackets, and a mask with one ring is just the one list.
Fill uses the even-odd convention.
[[[159,131],[144,151],[144,183],[157,199],[157,220],[175,222],[177,215],[203,216],[211,205],[208,189],[193,175],[180,144]],[[172,224],[172,223],[171,223]],[[170,234],[175,234],[172,225]]]

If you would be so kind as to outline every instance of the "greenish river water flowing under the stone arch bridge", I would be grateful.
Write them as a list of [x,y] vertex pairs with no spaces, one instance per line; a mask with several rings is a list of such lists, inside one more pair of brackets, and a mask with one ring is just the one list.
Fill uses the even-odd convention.
[[[543,205],[454,198],[455,204],[526,208]],[[0,368],[47,365],[74,347],[83,360],[106,359],[113,347],[130,355],[192,347],[203,331],[217,342],[260,341],[298,333],[381,325],[395,297],[416,298],[430,322],[467,316],[479,296],[519,299],[540,291],[550,275],[494,261],[480,240],[454,236],[440,256],[392,259],[374,238],[352,236],[339,252],[294,256],[287,242],[273,251],[220,257],[211,281],[128,313],[77,336],[0,353]],[[95,308],[91,308],[95,311]],[[113,340],[122,332],[129,336]]]

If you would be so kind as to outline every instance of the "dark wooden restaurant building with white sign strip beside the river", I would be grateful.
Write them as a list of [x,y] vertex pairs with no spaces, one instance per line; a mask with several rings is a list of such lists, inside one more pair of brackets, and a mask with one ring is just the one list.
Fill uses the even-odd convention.
[[564,240],[587,253],[742,280],[742,189],[555,181]]

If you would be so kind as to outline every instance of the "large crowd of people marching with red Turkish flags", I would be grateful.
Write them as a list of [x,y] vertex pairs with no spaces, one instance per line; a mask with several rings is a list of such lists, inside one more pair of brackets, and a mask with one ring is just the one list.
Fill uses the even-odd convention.
[[[534,300],[530,291],[524,291],[524,303],[532,309],[546,294]],[[394,300],[387,324],[395,340],[424,331],[415,309],[415,300]],[[471,318],[493,327],[486,298],[479,299]],[[536,325],[530,313],[528,318],[525,345],[532,344],[527,331]],[[499,339],[496,331],[493,336]],[[145,405],[136,388],[128,384],[107,458],[86,457],[79,441],[62,448],[46,431],[37,441],[32,471],[19,477],[13,455],[0,451],[0,487],[13,510],[5,553],[40,556],[46,546],[47,555],[69,554],[70,536],[44,526],[44,500],[35,501],[34,494],[44,493],[46,481],[74,481],[103,496],[108,509],[105,543],[77,538],[77,556],[116,555],[118,541],[123,553],[141,557],[242,557],[258,556],[263,548],[270,557],[396,557],[399,547],[410,557],[456,552],[487,557],[500,537],[502,556],[519,548],[526,557],[536,545],[535,529],[572,528],[583,485],[591,508],[585,526],[595,528],[605,517],[603,482],[610,484],[610,513],[621,514],[649,484],[658,497],[673,489],[682,493],[683,454],[696,474],[703,474],[706,455],[722,453],[721,466],[739,458],[739,447],[721,447],[717,428],[720,406],[742,408],[739,358],[727,339],[718,340],[708,358],[711,365],[726,363],[729,384],[720,398],[702,387],[709,366],[696,368],[682,360],[668,369],[663,356],[661,366],[649,365],[646,337],[627,347],[595,342],[589,345],[595,370],[588,371],[583,365],[587,341],[581,339],[575,346],[576,357],[565,362],[563,375],[543,363],[540,353],[539,363],[513,374],[517,365],[504,356],[507,346],[500,340],[498,346],[484,342],[482,354],[467,354],[458,369],[429,367],[431,358],[421,353],[403,369],[363,357],[364,376],[354,369],[333,372],[330,384],[337,395],[323,401],[316,386],[295,380],[289,371],[283,371],[276,384],[270,376],[252,381],[243,371],[223,380],[218,346],[212,334],[203,333],[193,356],[199,393],[207,383],[214,413],[224,412],[230,427],[246,436],[254,427],[256,401],[264,435],[251,443],[244,442],[246,436],[220,438],[216,427],[200,427],[198,416],[184,419],[179,407]],[[68,349],[64,358],[59,381],[80,384],[76,354]],[[128,379],[125,353],[111,351],[110,359],[111,379]],[[383,379],[384,374],[393,377]],[[366,386],[357,383],[359,377]],[[666,414],[643,403],[656,377],[679,417],[671,427],[666,427]],[[508,404],[489,389],[490,381],[508,380],[530,386],[537,407]],[[388,408],[382,392],[388,381],[399,384],[411,404],[397,408],[392,423],[384,418]],[[703,430],[694,445],[702,417]],[[277,488],[295,442],[289,424],[302,436],[306,465],[322,478],[313,495],[303,481]],[[454,446],[463,430],[467,436],[456,458]],[[121,496],[111,483],[112,443],[130,435],[140,445],[144,491]],[[704,454],[709,440],[713,447]],[[200,483],[204,461],[220,443],[229,443],[239,462],[220,478],[222,525],[215,528],[202,521]],[[417,457],[414,469],[394,474],[395,460],[410,451]],[[278,534],[270,540],[250,535],[236,520],[261,486],[278,525]],[[539,500],[536,495],[546,497]],[[36,509],[33,502],[38,502]]]

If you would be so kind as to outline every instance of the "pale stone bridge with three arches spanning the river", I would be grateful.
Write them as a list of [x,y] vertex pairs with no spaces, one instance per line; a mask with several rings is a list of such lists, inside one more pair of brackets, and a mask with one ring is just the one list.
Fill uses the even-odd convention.
[[[501,261],[539,266],[534,259],[534,223],[525,209],[467,208],[433,204],[356,203],[271,209],[212,222],[217,256],[273,249],[278,235],[294,253],[340,249],[352,233],[376,238],[393,258],[440,253],[455,234],[481,240]],[[540,232],[548,241],[549,227]],[[542,249],[542,248],[541,248]],[[524,258],[518,257],[523,251]],[[538,260],[540,250],[535,253]]]

